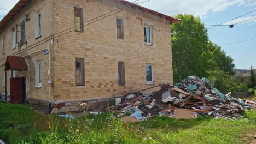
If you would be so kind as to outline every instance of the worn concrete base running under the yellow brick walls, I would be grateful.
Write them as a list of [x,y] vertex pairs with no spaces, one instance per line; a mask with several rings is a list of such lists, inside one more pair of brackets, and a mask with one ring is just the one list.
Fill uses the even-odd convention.
[[[39,109],[43,111],[43,113],[49,113],[49,102],[36,100],[36,99],[27,99],[28,103],[30,103],[31,107],[34,109]],[[85,106],[80,106],[80,103],[86,103]],[[69,112],[81,112],[84,110],[93,111],[93,110],[101,110],[106,109],[107,107],[114,104],[113,98],[100,98],[100,99],[90,99],[90,100],[73,100],[73,101],[57,101],[55,103],[51,103],[51,113],[59,114],[59,113],[69,113]]]

